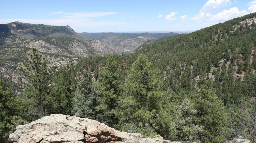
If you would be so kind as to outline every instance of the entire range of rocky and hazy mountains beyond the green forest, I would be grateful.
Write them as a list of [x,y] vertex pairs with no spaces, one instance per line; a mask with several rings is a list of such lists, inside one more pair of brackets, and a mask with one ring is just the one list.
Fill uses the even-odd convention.
[[[11,22],[0,24],[0,76],[20,91],[25,77],[17,70],[29,59],[32,47],[48,55],[51,64],[67,57],[105,55],[131,51],[164,36],[177,33],[77,33],[70,26],[50,26]],[[87,35],[87,37],[84,37]],[[90,36],[91,35],[91,36]]]

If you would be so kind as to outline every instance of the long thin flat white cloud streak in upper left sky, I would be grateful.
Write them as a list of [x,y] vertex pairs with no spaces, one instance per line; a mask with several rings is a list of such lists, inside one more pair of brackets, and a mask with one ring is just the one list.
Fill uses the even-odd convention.
[[63,13],[64,15],[61,15],[61,17],[67,17],[67,18],[89,18],[89,17],[100,17],[100,16],[106,16],[106,15],[113,15],[116,14],[116,12],[76,12],[76,13]]

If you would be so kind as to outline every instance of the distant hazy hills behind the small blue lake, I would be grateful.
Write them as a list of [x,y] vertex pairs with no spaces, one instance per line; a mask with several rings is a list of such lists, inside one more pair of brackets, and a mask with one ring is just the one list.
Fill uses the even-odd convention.
[[114,46],[125,48],[127,50],[133,51],[138,46],[145,43],[152,43],[157,39],[177,35],[178,33],[80,33],[87,39],[98,39],[111,43]]

